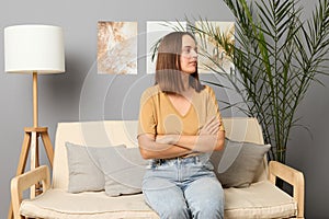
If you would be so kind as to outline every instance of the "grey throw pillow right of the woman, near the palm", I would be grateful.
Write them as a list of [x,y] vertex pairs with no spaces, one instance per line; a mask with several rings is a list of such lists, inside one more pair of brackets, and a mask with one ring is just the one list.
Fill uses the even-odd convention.
[[270,145],[226,139],[223,151],[214,151],[211,161],[223,187],[248,187],[263,161]]

